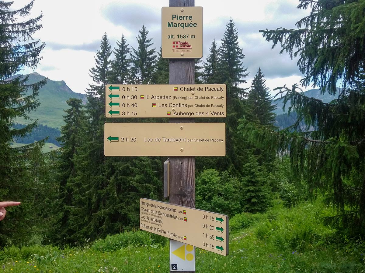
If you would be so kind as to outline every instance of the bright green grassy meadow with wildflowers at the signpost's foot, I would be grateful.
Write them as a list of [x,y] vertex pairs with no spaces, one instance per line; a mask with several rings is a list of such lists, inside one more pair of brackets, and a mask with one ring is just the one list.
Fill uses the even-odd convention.
[[[322,218],[332,214],[319,201],[293,208],[277,202],[264,214],[237,214],[230,219],[228,256],[197,248],[196,272],[365,272],[365,242],[346,244],[324,226]],[[169,272],[168,240],[145,231],[65,249],[43,244],[5,248],[0,272]]]

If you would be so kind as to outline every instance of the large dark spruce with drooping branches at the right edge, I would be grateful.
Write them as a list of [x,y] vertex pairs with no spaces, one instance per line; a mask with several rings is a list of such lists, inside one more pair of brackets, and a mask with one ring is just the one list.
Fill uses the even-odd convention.
[[[337,207],[331,220],[365,235],[365,71],[364,1],[300,0],[298,9],[311,9],[296,23],[297,29],[260,30],[267,41],[278,43],[306,75],[304,86],[319,86],[339,97],[330,103],[308,98],[297,84],[278,88],[289,112],[298,115],[297,131],[276,132],[246,122],[242,134],[265,149],[290,151],[294,173],[306,175],[310,192],[322,190],[326,201]],[[307,128],[299,128],[304,119]],[[297,179],[298,179],[297,178]]]

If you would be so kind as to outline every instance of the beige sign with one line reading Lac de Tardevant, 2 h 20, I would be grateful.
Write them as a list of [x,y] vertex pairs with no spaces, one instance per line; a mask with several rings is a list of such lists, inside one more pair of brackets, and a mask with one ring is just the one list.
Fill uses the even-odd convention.
[[224,156],[225,123],[105,123],[105,156]]

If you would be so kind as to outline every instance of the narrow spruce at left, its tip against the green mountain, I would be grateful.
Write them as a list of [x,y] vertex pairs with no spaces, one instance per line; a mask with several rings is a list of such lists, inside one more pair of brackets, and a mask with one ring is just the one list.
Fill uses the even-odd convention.
[[73,187],[71,179],[76,177],[74,155],[81,146],[84,136],[82,135],[85,126],[85,114],[82,110],[82,100],[71,98],[67,102],[69,108],[65,110],[65,125],[61,128],[61,137],[57,140],[62,143],[62,153],[58,155],[56,162],[58,186],[57,206],[55,213],[61,213],[60,224],[55,240],[59,244],[69,242],[72,230],[69,228],[70,207],[73,205]]

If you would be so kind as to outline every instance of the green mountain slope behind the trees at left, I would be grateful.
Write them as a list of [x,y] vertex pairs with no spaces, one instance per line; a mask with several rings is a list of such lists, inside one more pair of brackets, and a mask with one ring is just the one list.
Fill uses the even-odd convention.
[[[46,77],[39,75],[37,72],[31,73],[29,74],[28,84],[39,82],[44,78]],[[48,79],[46,85],[39,90],[38,100],[41,106],[37,111],[31,112],[29,116],[33,120],[38,119],[38,124],[60,129],[64,125],[64,110],[69,108],[66,104],[69,98],[82,99],[84,104],[86,103],[86,95],[73,92],[63,80]],[[16,119],[15,123],[29,124],[30,121]]]

